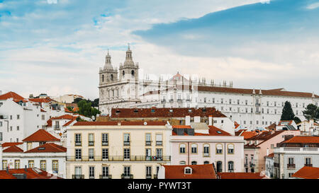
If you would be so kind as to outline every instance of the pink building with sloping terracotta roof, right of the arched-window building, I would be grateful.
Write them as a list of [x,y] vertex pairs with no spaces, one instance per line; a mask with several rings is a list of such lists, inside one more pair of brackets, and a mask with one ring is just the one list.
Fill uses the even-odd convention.
[[296,135],[300,135],[300,130],[259,131],[259,134],[245,139],[245,172],[266,170],[265,156],[274,153],[276,144]]

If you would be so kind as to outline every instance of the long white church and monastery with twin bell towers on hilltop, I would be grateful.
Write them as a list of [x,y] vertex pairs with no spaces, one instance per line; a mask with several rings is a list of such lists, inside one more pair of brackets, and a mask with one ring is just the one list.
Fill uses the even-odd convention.
[[319,95],[287,91],[233,88],[233,82],[217,85],[198,76],[182,76],[177,73],[164,80],[159,76],[151,80],[141,78],[139,65],[133,62],[128,46],[124,64],[114,68],[111,56],[99,70],[99,110],[102,115],[111,114],[112,108],[148,107],[215,107],[234,122],[247,129],[262,129],[278,124],[284,103],[291,103],[293,112],[301,121],[305,107],[318,105]]

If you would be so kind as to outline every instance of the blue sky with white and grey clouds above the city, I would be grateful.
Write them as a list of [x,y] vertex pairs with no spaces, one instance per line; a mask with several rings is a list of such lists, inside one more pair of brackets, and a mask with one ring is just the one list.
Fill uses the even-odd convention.
[[99,68],[319,94],[319,0],[0,0],[0,90],[99,97]]

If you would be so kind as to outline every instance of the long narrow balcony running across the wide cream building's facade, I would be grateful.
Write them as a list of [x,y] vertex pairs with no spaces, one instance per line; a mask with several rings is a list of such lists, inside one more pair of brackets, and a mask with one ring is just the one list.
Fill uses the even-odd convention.
[[[91,159],[92,158],[92,159]],[[171,156],[67,156],[67,161],[170,161]]]

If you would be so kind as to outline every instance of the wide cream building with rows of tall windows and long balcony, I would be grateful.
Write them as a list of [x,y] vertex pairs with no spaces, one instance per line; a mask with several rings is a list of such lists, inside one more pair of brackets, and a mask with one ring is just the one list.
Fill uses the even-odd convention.
[[67,178],[157,177],[170,164],[167,122],[77,122],[67,129]]

